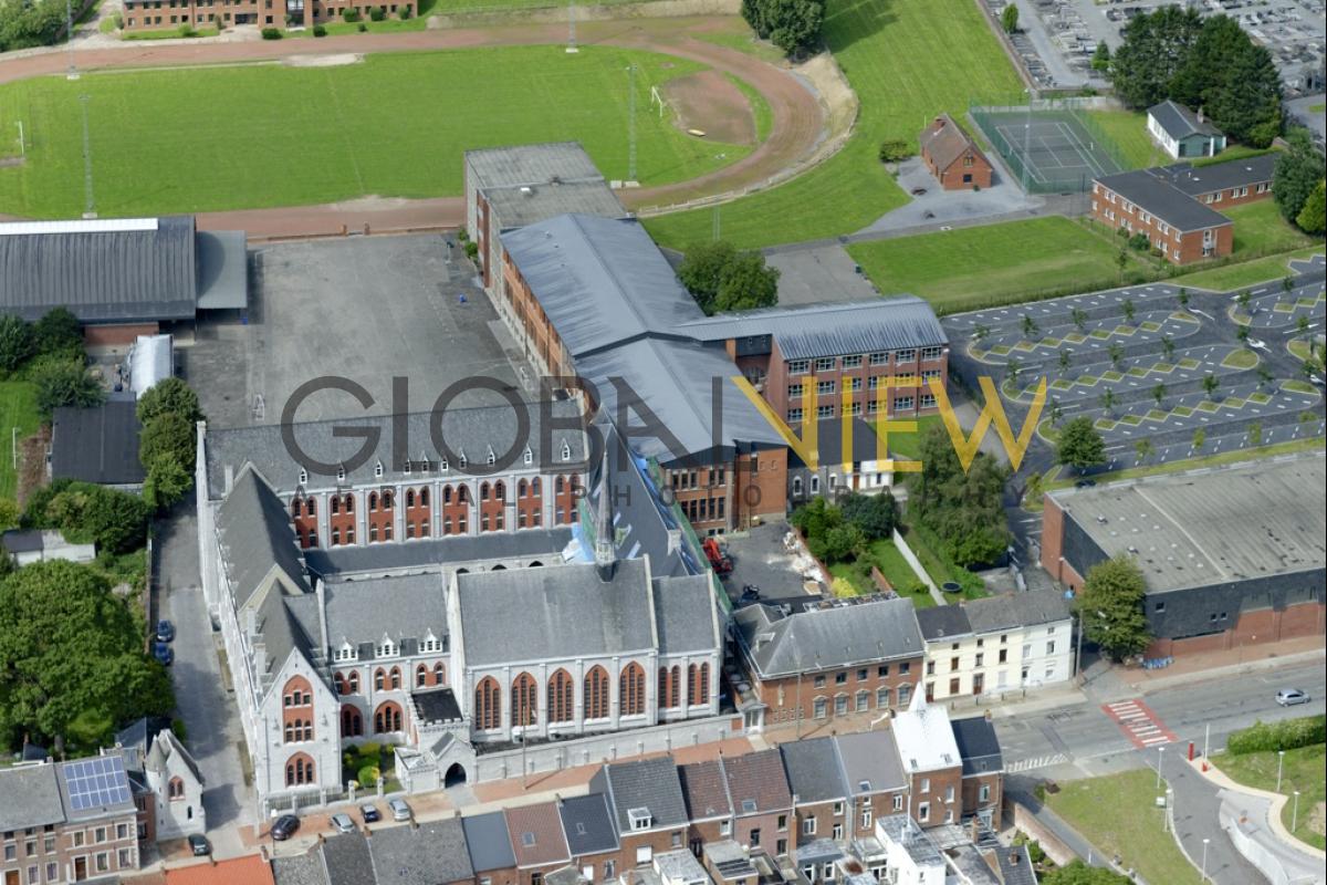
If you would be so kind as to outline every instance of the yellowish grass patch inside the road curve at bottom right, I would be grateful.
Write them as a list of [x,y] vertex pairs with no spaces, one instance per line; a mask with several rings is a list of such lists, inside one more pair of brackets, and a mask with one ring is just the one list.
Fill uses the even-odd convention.
[[[1162,789],[1164,789],[1162,784]],[[1133,868],[1149,882],[1198,885],[1201,874],[1180,851],[1174,836],[1161,829],[1156,808],[1156,775],[1127,771],[1060,784],[1046,804],[1107,856]]]

